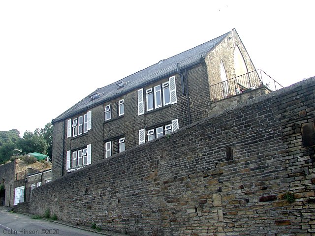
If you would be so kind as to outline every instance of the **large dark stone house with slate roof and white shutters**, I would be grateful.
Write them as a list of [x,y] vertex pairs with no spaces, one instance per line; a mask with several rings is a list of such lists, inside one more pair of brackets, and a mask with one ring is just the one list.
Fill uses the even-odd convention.
[[213,102],[243,91],[270,89],[235,29],[96,89],[52,120],[53,179],[208,117]]

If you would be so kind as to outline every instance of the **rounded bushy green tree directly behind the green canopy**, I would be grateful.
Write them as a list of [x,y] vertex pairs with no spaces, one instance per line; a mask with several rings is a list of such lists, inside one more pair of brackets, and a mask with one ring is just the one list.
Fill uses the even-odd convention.
[[22,149],[23,154],[39,152],[47,155],[48,145],[44,136],[41,134],[39,129],[32,131],[25,131],[23,138],[19,142],[19,148]]

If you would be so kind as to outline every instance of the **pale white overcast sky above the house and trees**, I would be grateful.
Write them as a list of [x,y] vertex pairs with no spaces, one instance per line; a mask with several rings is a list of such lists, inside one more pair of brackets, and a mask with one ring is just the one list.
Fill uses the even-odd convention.
[[284,87],[315,76],[314,0],[0,0],[0,131],[43,128],[97,88],[235,28]]

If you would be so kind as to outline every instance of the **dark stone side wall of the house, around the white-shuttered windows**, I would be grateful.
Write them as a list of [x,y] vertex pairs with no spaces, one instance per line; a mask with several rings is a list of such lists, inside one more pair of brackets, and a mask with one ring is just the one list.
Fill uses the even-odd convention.
[[[168,75],[165,78],[142,87],[144,89],[144,115],[138,115],[138,90],[122,94],[113,100],[100,104],[82,114],[71,117],[78,118],[88,111],[92,112],[92,129],[77,137],[67,138],[67,120],[54,124],[53,141],[53,179],[67,174],[66,152],[92,146],[92,163],[105,158],[104,144],[112,142],[113,154],[118,153],[118,140],[125,137],[126,149],[139,145],[139,130],[146,131],[157,128],[160,125],[171,123],[178,119],[179,127],[184,127],[190,122],[207,117],[209,108],[209,86],[207,80],[207,67],[200,63],[186,70],[189,86],[190,114],[188,109],[188,97],[183,95],[182,81],[178,74]],[[184,71],[182,71],[184,73]],[[152,111],[146,111],[146,89],[167,82],[169,77],[175,76],[177,103],[162,106]],[[186,73],[185,75],[186,76]],[[187,91],[186,77],[184,77],[185,91]],[[139,88],[140,89],[140,88]],[[125,115],[118,116],[118,101],[124,99]],[[106,105],[111,104],[111,119],[105,120],[104,110]],[[65,127],[65,128],[63,128]],[[63,141],[62,141],[63,139]],[[63,171],[62,171],[63,170]]]

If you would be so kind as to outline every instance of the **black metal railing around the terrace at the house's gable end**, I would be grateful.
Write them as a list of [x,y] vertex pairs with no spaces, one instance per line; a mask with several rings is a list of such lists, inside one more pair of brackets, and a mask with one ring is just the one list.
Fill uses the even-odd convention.
[[244,75],[210,86],[210,96],[213,101],[228,98],[252,89],[266,87],[270,91],[284,88],[277,81],[258,69]]

